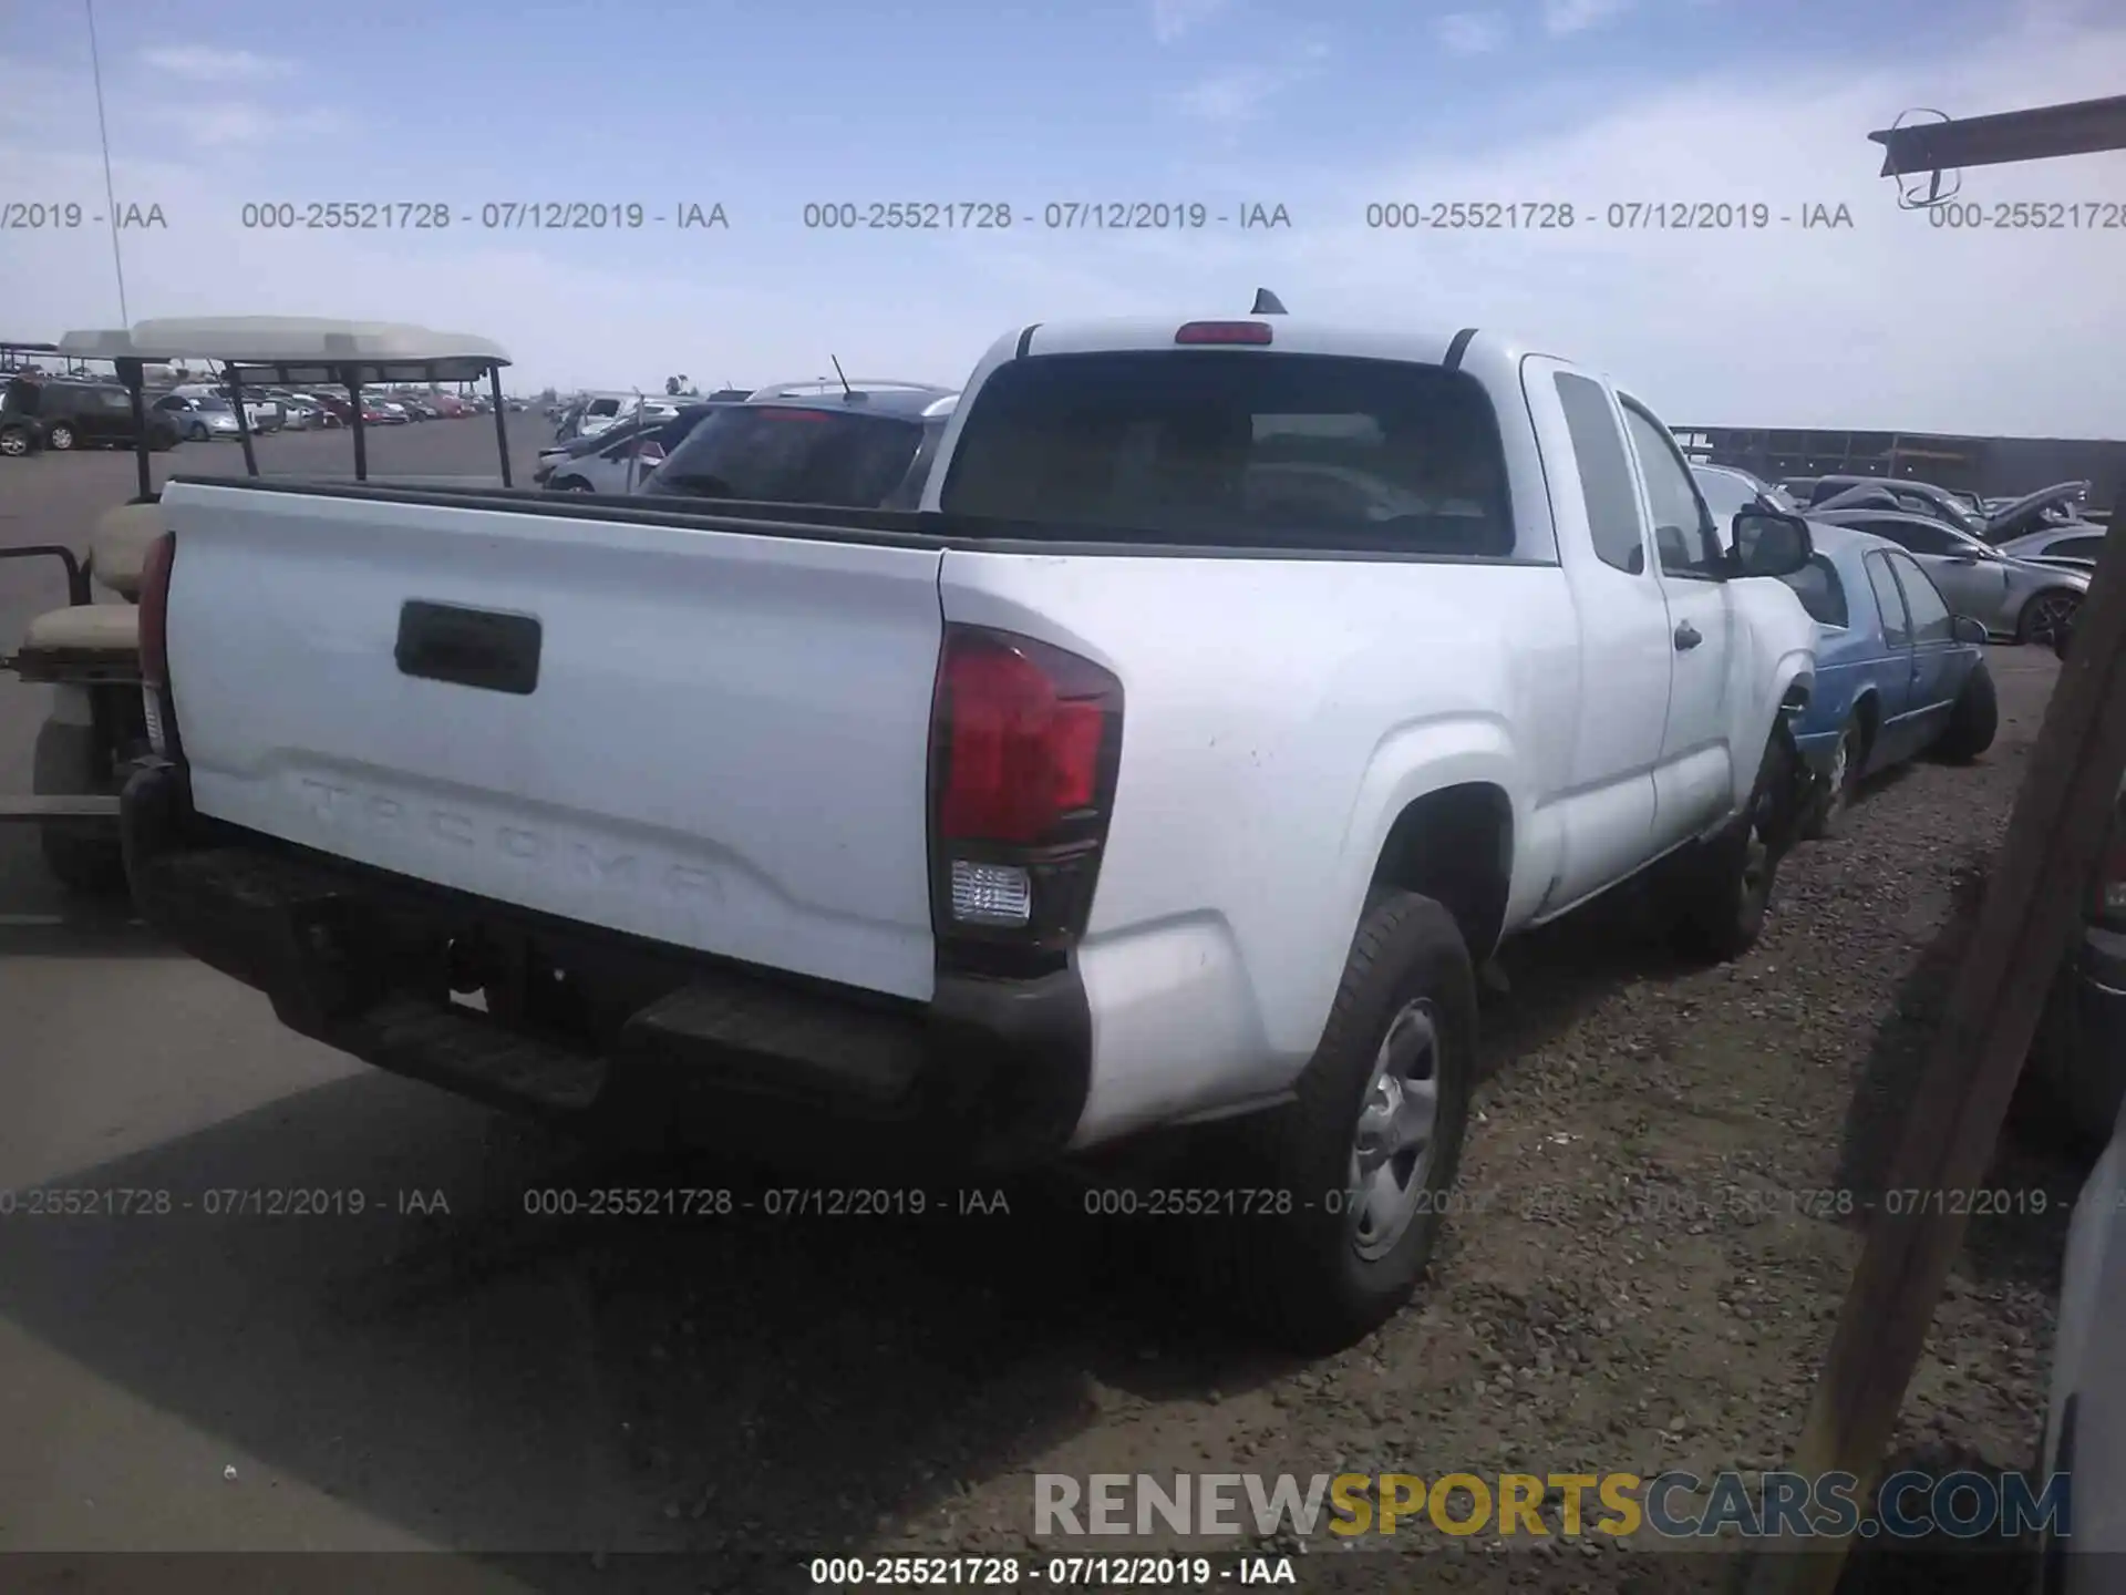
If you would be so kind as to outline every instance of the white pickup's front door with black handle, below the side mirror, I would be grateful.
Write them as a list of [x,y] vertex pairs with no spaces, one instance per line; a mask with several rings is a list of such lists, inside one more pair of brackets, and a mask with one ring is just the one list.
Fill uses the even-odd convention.
[[[1622,396],[1620,396],[1622,398]],[[1624,432],[1639,457],[1660,595],[1667,602],[1669,719],[1654,768],[1654,829],[1680,842],[1735,806],[1735,751],[1728,746],[1728,668],[1735,655],[1735,606],[1726,589],[1726,549],[1711,510],[1690,481],[1675,438],[1635,400],[1624,398]]]

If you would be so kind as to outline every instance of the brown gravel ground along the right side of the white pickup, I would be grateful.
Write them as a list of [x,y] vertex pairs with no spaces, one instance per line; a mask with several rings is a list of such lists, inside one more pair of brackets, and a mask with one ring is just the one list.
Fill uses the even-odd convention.
[[[1091,1308],[1065,1304],[1057,1274],[1037,1295],[1003,1295],[982,1333],[952,1310],[944,1325],[878,1327],[931,1340],[923,1363],[950,1370],[952,1404],[984,1414],[952,1427],[1008,1425],[1072,1382],[1089,1414],[1061,1438],[1025,1433],[1008,1470],[969,1467],[940,1433],[935,1478],[957,1482],[918,1489],[921,1510],[889,1508],[878,1542],[1029,1548],[1031,1472],[1777,1465],[1858,1255],[1858,1221],[1839,1214],[1879,1189],[2056,672],[2035,649],[1994,651],[1992,668],[1992,753],[1875,783],[1839,838],[1788,859],[1775,917],[1741,963],[1677,970],[1626,910],[1507,951],[1512,995],[1488,1021],[1467,1208],[1420,1306],[1354,1350],[1265,1365],[1203,1344],[1216,1304],[1131,1325],[1099,1304],[1108,1287],[1093,1287]],[[2035,1457],[2077,1182],[2073,1163],[2005,1144],[1990,1185],[2043,1191],[2047,1210],[1973,1225],[1905,1404],[1901,1455],[1986,1467]],[[918,1404],[921,1387],[918,1372]],[[1441,1552],[1444,1538],[1418,1546]],[[1405,1557],[1363,1561],[1363,1578],[1352,1567],[1335,1586],[1410,1589],[1418,1574]],[[1667,1557],[1658,1586],[1709,1578],[1709,1563]],[[1894,1572],[1856,1559],[1847,1586],[1884,1589]],[[1998,1586],[1998,1567],[1971,1572]],[[1626,1582],[1614,1552],[1492,1557],[1478,1542],[1427,1555],[1422,1576]],[[1928,1569],[1918,1586],[1947,1578]]]

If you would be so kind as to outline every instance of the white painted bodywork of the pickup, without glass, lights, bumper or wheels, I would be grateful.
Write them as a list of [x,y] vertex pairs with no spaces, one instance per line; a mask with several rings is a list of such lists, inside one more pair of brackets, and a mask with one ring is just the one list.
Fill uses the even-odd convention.
[[[1020,342],[1152,351],[1176,325],[999,338],[925,508]],[[1597,559],[1552,387],[1571,368],[1454,345],[1497,413],[1512,559],[887,547],[174,485],[170,676],[196,802],[500,902],[925,1000],[940,640],[1018,632],[1114,672],[1125,702],[1076,948],[1093,1068],[1074,1144],[1276,1097],[1320,1040],[1407,804],[1503,793],[1503,929],[1522,929],[1722,827],[1811,670],[1813,621],[1782,583],[1660,572],[1637,453],[1643,568]],[[1278,317],[1261,357],[1290,351],[1441,364],[1450,340]],[[538,693],[398,674],[408,598],[536,615]],[[1682,621],[1703,636],[1688,653]]]

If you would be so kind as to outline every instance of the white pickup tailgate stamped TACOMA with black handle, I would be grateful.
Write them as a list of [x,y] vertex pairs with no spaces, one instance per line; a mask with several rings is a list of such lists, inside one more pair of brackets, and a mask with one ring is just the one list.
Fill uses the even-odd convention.
[[[202,815],[931,995],[935,549],[202,483],[164,508]],[[402,661],[402,625],[449,632],[466,608],[527,617],[495,647],[536,678],[432,678],[468,674],[466,632]]]

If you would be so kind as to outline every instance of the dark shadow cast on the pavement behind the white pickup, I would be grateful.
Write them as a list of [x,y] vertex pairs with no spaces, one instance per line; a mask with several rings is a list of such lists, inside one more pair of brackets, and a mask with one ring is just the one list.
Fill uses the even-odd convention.
[[[381,1074],[64,1185],[170,1193],[162,1216],[0,1225],[0,1312],[98,1378],[429,1544],[682,1548],[719,1589],[1014,1470],[1095,1421],[1103,1387],[1280,1367],[1220,1346],[1201,1325],[1222,1314],[1148,1242],[1054,1193],[770,1219],[727,1165],[621,1161]],[[527,1212],[617,1189],[693,1195]],[[446,1212],[402,1210],[438,1193]]]

